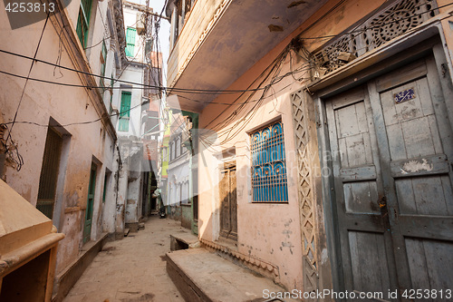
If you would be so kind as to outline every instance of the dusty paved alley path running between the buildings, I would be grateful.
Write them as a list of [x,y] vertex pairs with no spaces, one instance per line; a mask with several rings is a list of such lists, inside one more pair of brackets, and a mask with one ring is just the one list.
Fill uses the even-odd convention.
[[107,243],[63,302],[183,302],[162,259],[180,222],[151,217],[145,229]]

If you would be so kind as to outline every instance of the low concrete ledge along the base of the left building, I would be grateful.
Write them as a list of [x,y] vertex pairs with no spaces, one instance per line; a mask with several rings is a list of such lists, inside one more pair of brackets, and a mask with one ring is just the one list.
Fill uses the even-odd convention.
[[92,260],[98,255],[107,241],[109,241],[109,234],[102,233],[100,239],[89,241],[82,247],[79,258],[74,260],[71,265],[55,278],[53,302],[63,301],[63,298],[66,297],[77,280],[81,278],[85,269],[92,263]]

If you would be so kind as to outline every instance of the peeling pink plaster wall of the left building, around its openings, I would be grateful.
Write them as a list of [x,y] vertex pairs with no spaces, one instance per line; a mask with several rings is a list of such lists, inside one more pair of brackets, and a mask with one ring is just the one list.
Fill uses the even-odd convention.
[[[99,2],[92,10],[92,32],[90,38],[93,44],[102,40],[104,26],[101,15],[106,18],[107,2]],[[77,22],[80,1],[73,1],[67,8],[71,22]],[[34,56],[34,52],[43,31],[44,20],[18,29],[11,30],[8,17],[5,13],[4,3],[0,4],[0,39],[3,41],[1,49],[14,54]],[[72,30],[71,28],[69,30]],[[74,32],[75,35],[75,32]],[[67,44],[60,44],[59,36],[63,36],[49,20],[43,32],[43,38],[36,57],[47,62],[55,63],[56,58],[63,66],[78,68],[74,65],[70,50],[79,52],[79,49],[66,48]],[[76,36],[76,35],[75,35]],[[5,42],[8,43],[5,43]],[[78,43],[78,41],[75,41]],[[69,42],[74,47],[72,42]],[[109,48],[109,45],[107,45]],[[100,73],[101,44],[93,46],[87,51],[87,60],[92,68],[92,73]],[[0,70],[24,75],[30,69],[31,61],[17,56],[0,54]],[[72,71],[67,71],[44,63],[34,63],[31,76],[38,79],[85,84],[82,76]],[[21,93],[24,89],[24,79],[14,78],[9,75],[0,75],[0,108],[5,122],[14,118]],[[94,97],[95,94],[80,87],[64,87],[49,83],[29,81],[24,91],[24,97],[19,107],[16,121],[36,122],[48,125],[50,119],[65,125],[77,122],[99,120],[102,99]],[[58,130],[59,128],[57,128]],[[61,241],[57,254],[57,274],[63,271],[74,261],[82,248],[82,230],[85,219],[85,209],[88,195],[90,169],[93,157],[97,159],[98,174],[94,200],[94,213],[92,225],[92,239],[99,238],[102,230],[103,219],[102,190],[104,172],[113,170],[112,161],[114,141],[116,137],[109,130],[113,130],[108,123],[92,122],[63,126],[63,151],[61,168],[58,176],[57,194],[55,200],[53,223],[59,232],[66,237]],[[16,123],[12,132],[18,151],[24,158],[24,166],[20,171],[14,169],[12,164],[5,168],[4,180],[19,192],[31,204],[36,205],[41,168],[43,165],[43,151],[46,141],[46,127],[34,124]],[[66,143],[67,142],[67,143]],[[111,195],[110,198],[113,196]],[[107,203],[115,202],[113,199]]]

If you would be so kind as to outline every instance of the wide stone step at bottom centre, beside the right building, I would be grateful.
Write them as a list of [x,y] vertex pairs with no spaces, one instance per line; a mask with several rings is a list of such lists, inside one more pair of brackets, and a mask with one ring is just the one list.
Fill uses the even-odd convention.
[[167,253],[167,272],[182,297],[190,302],[296,301],[269,298],[270,293],[284,292],[284,288],[206,248]]

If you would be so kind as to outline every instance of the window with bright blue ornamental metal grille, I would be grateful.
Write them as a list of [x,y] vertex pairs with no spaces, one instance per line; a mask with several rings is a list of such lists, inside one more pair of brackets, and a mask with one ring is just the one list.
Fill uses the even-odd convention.
[[287,202],[282,122],[253,132],[251,139],[253,202]]

